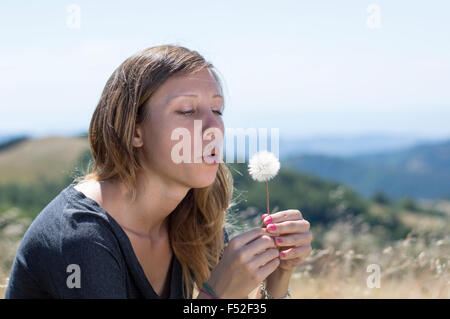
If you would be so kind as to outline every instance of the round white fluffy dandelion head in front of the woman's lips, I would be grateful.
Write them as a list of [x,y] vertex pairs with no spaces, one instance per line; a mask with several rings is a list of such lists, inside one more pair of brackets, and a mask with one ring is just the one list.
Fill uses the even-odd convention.
[[258,182],[267,182],[275,177],[280,169],[278,158],[268,151],[254,154],[248,164],[250,176]]

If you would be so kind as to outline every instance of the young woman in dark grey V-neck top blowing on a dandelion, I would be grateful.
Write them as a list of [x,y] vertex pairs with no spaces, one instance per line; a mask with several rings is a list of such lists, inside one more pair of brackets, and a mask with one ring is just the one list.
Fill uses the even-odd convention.
[[94,165],[27,230],[6,298],[193,298],[194,286],[198,298],[246,298],[262,282],[251,298],[284,297],[311,251],[302,214],[277,212],[228,241],[226,165],[214,151],[174,160],[174,132],[195,144],[196,120],[202,137],[223,137],[223,107],[219,77],[196,51],[164,45],[125,60],[90,123]]

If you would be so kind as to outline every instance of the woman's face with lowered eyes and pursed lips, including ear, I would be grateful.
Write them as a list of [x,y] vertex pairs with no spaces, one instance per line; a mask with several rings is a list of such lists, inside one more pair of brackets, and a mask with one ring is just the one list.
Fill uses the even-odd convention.
[[210,70],[172,76],[143,107],[148,117],[136,125],[133,142],[142,147],[143,165],[168,182],[189,188],[211,185],[219,164],[203,154],[211,153],[206,146],[214,137],[221,155],[224,124],[223,97]]

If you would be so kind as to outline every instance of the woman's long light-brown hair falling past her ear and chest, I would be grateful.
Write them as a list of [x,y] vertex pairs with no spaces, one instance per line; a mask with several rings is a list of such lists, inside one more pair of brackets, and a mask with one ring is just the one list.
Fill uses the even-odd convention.
[[[127,185],[134,201],[136,174],[142,163],[132,137],[136,123],[147,116],[143,106],[169,77],[203,68],[210,69],[223,92],[214,66],[185,47],[155,46],[126,59],[103,89],[89,126],[93,161],[75,181],[118,179]],[[171,246],[183,270],[185,298],[193,298],[194,285],[199,289],[208,280],[223,254],[223,227],[232,193],[232,175],[224,163],[219,163],[214,182],[208,187],[191,188],[168,217]]]

